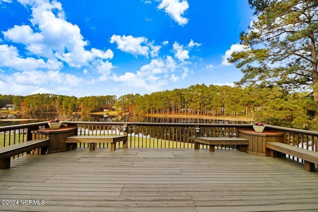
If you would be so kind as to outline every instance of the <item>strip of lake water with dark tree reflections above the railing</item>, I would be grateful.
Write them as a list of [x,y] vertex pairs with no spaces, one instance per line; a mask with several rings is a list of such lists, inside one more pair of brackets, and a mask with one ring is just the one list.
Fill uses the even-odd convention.
[[[55,119],[55,114],[16,114],[0,115],[0,126],[28,124],[34,122],[49,121]],[[3,121],[5,119],[31,119],[27,121]],[[223,121],[200,118],[167,118],[167,117],[145,117],[145,116],[109,116],[109,115],[74,115],[71,121],[91,122],[150,122],[150,123],[199,123],[199,124],[249,124],[241,121]]]

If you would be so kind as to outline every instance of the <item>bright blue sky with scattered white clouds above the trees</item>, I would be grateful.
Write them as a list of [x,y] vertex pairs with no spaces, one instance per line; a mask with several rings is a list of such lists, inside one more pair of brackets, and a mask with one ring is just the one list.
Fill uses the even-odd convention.
[[247,0],[0,0],[0,94],[233,85]]

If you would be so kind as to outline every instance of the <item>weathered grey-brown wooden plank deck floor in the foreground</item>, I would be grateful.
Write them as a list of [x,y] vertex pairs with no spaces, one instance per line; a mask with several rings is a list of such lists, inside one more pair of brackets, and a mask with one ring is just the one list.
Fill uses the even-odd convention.
[[231,149],[78,148],[12,159],[0,200],[38,204],[0,211],[316,211],[318,172]]

